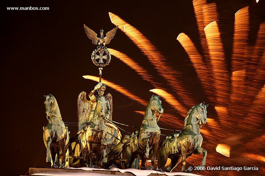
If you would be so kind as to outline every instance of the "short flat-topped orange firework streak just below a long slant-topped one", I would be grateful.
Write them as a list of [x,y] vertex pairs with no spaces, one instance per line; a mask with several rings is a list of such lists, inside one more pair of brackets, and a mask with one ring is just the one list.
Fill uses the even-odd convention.
[[246,104],[246,71],[234,71],[231,77],[230,115],[231,117],[245,117]]

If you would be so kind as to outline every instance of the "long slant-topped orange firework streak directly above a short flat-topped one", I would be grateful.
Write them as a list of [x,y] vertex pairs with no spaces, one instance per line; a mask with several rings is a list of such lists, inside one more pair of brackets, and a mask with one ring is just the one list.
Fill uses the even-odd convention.
[[232,71],[239,71],[244,68],[245,48],[248,45],[249,34],[249,9],[248,6],[241,8],[235,13]]

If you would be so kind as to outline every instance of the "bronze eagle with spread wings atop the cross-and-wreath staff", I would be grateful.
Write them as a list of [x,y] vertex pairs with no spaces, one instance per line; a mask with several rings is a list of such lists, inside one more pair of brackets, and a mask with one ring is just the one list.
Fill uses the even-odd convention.
[[101,45],[101,46],[103,44],[105,46],[106,44],[111,42],[111,39],[113,39],[113,37],[116,34],[116,31],[118,29],[118,26],[113,28],[112,30],[108,31],[106,33],[105,37],[103,35],[103,29],[100,30],[100,37],[97,37],[97,34],[95,33],[95,31],[93,31],[92,29],[90,29],[86,25],[84,25],[84,29],[85,29],[86,35],[88,36],[88,38],[90,38],[92,40],[93,44]]

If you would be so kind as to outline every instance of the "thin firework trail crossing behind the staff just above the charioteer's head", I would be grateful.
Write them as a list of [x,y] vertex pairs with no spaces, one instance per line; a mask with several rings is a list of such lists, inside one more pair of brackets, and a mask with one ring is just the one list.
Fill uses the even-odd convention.
[[[97,81],[99,82],[99,77],[96,77],[96,76],[90,76],[90,75],[85,75],[83,76],[83,78],[86,78],[86,79],[89,79],[89,80],[92,80],[92,81]],[[146,106],[148,104],[147,101],[143,100],[142,98],[134,95],[132,92],[130,92],[129,90],[126,90],[124,87],[122,86],[119,86],[119,85],[116,85],[114,84],[113,82],[111,81],[108,81],[108,80],[105,80],[103,78],[101,78],[101,82],[109,87],[111,87],[112,89],[120,92],[121,94],[127,96],[128,98],[130,98],[131,100],[134,100],[144,106]]]

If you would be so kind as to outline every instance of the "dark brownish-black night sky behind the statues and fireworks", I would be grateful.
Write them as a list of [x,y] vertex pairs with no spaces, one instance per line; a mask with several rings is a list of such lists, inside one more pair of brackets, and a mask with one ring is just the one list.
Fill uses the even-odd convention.
[[[216,2],[220,30],[226,56],[231,54],[234,14],[250,6],[250,34],[256,36],[264,21],[264,2],[255,0],[219,0]],[[49,7],[47,11],[11,11],[6,7]],[[48,167],[42,127],[47,124],[43,95],[53,94],[59,104],[63,121],[77,122],[77,96],[90,91],[96,82],[83,75],[98,75],[91,62],[96,47],[87,38],[83,24],[99,33],[115,27],[109,18],[112,12],[140,30],[165,56],[176,70],[191,96],[207,102],[200,82],[185,50],[176,40],[179,33],[187,34],[200,52],[200,40],[191,0],[174,1],[1,1],[1,170],[5,175],[23,174],[28,166]],[[263,12],[262,12],[263,9]],[[254,43],[255,37],[249,39]],[[119,29],[107,45],[121,51],[142,65],[157,82],[166,85],[130,39]],[[228,65],[230,61],[228,60]],[[157,63],[159,64],[159,63]],[[229,69],[229,68],[228,68]],[[173,70],[174,72],[174,70]],[[153,89],[150,83],[117,58],[104,67],[103,78],[115,82],[144,100],[149,100]],[[113,96],[113,119],[140,126],[142,115],[135,110],[145,107],[108,88]],[[164,112],[176,113],[163,102]],[[128,115],[124,114],[127,112]],[[211,110],[210,110],[211,112]],[[208,112],[209,114],[209,112]],[[162,117],[162,116],[161,116]],[[173,127],[173,128],[180,128]],[[162,127],[162,125],[161,125]],[[165,127],[165,126],[164,126]],[[77,127],[69,127],[70,136]],[[128,129],[134,130],[134,129]],[[206,161],[207,162],[207,161]]]

